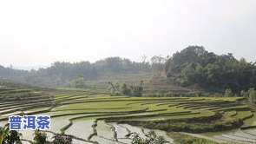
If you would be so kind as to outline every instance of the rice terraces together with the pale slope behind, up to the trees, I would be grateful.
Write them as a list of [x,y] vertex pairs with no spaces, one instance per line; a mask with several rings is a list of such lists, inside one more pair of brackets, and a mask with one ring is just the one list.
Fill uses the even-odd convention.
[[[65,134],[75,144],[124,144],[135,142],[131,135],[146,139],[154,131],[163,143],[256,143],[256,113],[247,100],[256,94],[253,88],[221,94],[171,84],[177,77],[159,72],[110,75],[82,83],[78,76],[69,88],[1,80],[1,126],[9,115],[50,115],[50,129],[43,132],[49,141]],[[20,133],[23,143],[35,140],[34,131]]]

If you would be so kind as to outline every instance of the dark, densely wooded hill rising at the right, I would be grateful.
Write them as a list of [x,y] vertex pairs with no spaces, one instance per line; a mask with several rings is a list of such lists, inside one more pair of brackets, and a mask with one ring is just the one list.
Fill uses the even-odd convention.
[[203,47],[190,46],[176,52],[164,66],[170,82],[182,86],[197,84],[215,91],[256,87],[255,62],[237,60],[233,54],[218,56]]

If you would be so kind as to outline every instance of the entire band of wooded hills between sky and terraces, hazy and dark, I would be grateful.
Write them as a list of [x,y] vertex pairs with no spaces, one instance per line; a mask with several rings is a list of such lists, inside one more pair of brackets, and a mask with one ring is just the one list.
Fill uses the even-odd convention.
[[218,56],[199,46],[189,46],[169,58],[154,56],[150,62],[108,57],[93,63],[54,62],[47,69],[31,71],[0,67],[3,79],[74,88],[87,88],[88,85],[89,88],[106,88],[108,82],[113,81],[149,81],[152,77],[155,79],[155,72],[166,75],[166,78],[161,77],[166,79],[161,80],[161,86],[179,85],[215,92],[223,92],[226,88],[240,92],[256,87],[255,62],[246,62],[243,58],[238,60],[231,53]]

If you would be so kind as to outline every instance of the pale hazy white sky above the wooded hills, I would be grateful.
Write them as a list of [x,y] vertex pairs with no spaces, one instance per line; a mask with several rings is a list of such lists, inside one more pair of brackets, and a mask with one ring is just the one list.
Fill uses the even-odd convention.
[[256,62],[255,0],[0,1],[0,65],[171,56],[189,45]]

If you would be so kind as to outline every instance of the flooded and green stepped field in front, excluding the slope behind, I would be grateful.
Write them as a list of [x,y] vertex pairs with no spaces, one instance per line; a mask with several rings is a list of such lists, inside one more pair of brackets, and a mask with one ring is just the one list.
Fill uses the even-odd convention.
[[[89,89],[0,88],[0,124],[9,115],[50,115],[55,133],[73,135],[74,143],[129,143],[149,129],[173,143],[168,132],[185,132],[215,142],[255,143],[253,112],[240,97],[126,97],[97,95]],[[254,122],[254,123],[253,123]],[[225,127],[224,127],[225,126]],[[241,128],[241,129],[240,129]],[[221,132],[223,130],[233,130]],[[206,133],[212,132],[212,133]],[[32,141],[33,132],[23,131]],[[30,143],[25,141],[24,143]]]

